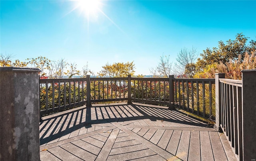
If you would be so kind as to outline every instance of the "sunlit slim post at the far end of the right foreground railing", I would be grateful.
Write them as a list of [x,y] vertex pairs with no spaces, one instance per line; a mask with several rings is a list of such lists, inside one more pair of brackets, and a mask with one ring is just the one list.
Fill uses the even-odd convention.
[[221,124],[221,111],[220,111],[220,78],[225,78],[225,73],[215,73],[215,126],[219,132],[223,132],[220,124]]

